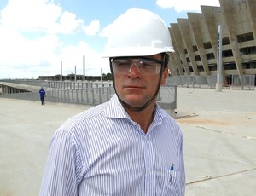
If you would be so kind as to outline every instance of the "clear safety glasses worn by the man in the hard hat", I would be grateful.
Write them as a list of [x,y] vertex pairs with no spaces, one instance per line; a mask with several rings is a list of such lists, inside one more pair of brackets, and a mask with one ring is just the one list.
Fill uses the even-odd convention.
[[[128,74],[129,72],[131,72],[131,67],[132,66],[136,66],[137,67],[137,71],[141,74],[141,75],[157,75],[159,74],[163,69],[162,67],[165,65],[165,61],[160,61],[160,60],[157,60],[157,59],[154,59],[154,58],[150,58],[150,57],[147,57],[147,56],[120,56],[120,57],[111,57],[109,58],[109,62],[110,62],[110,66],[111,66],[111,69],[114,72],[116,72],[116,67],[114,67],[114,61],[116,60],[128,60],[131,59],[131,60],[138,60],[136,62],[130,62],[129,63],[129,66],[127,66],[127,70],[126,72],[120,72],[120,73],[123,73],[124,75],[125,74]],[[140,63],[140,60],[147,60],[147,61],[152,61],[154,63],[156,63],[155,65],[155,72],[148,72],[148,73],[143,73],[142,72],[142,68],[143,68],[143,65],[141,64],[137,64],[137,63]],[[158,66],[159,65],[159,66]],[[128,68],[129,67],[129,68]],[[127,72],[128,71],[128,72]]]

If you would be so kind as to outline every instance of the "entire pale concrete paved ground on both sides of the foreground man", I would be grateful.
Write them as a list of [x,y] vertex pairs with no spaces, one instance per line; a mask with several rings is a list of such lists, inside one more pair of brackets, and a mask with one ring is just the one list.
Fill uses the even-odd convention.
[[[49,141],[89,108],[0,99],[0,195],[38,195]],[[186,196],[255,195],[256,91],[177,89]]]

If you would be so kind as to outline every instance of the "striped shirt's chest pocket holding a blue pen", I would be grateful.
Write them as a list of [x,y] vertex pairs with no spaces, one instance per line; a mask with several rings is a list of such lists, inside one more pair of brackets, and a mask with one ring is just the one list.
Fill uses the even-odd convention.
[[167,170],[167,178],[165,186],[163,188],[162,196],[175,195],[180,196],[180,171],[178,170]]

